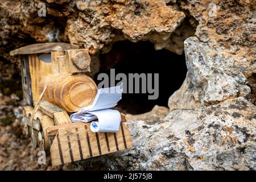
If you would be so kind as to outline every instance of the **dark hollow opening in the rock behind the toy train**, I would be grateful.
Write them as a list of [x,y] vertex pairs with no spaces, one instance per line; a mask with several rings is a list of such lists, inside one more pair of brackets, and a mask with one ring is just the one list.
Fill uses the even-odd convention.
[[[125,73],[127,77],[128,73],[159,73],[159,97],[148,100],[149,93],[123,93],[122,100],[118,102],[118,109],[123,113],[141,114],[155,105],[167,107],[168,98],[180,88],[187,73],[184,54],[177,55],[166,49],[156,51],[154,44],[147,41],[114,43],[108,53],[100,55],[100,60],[99,73],[106,73],[109,77],[111,68],[115,69],[115,75]],[[94,78],[98,85],[97,75]]]

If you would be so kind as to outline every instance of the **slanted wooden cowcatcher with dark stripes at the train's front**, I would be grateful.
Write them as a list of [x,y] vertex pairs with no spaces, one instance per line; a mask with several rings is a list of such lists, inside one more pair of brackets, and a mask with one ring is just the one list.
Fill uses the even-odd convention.
[[93,133],[90,123],[59,129],[51,146],[52,165],[75,162],[132,147],[131,136],[121,123],[117,133]]

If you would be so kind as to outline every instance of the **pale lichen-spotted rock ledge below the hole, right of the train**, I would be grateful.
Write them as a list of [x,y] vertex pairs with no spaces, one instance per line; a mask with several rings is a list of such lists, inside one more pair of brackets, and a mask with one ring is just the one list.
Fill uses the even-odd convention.
[[134,147],[75,169],[255,170],[256,108],[242,97],[200,111],[173,110],[162,122],[127,122]]

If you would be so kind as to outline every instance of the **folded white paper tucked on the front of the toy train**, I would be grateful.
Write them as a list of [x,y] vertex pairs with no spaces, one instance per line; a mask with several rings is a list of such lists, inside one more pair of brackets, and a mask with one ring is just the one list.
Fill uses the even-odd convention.
[[[121,122],[118,110],[109,109],[117,105],[122,98],[122,84],[110,88],[98,89],[93,104],[86,106],[71,115],[71,121],[92,122],[93,132],[117,132]],[[98,121],[96,121],[98,119]]]

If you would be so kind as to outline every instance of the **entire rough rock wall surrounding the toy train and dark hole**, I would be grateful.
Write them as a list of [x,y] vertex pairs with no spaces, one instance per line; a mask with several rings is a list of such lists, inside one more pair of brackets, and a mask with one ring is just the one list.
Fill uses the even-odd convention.
[[[133,121],[126,125],[133,148],[77,162],[71,168],[256,169],[254,0],[45,2],[46,18],[37,14],[39,1],[0,2],[0,64],[9,68],[0,72],[1,124],[12,122],[21,96],[20,88],[7,87],[17,82],[19,70],[10,49],[34,42],[71,42],[89,48],[99,64],[97,55],[108,52],[114,42],[149,40],[156,49],[185,52],[187,77],[170,97],[168,115],[163,118],[153,110],[130,116]],[[2,148],[15,150],[11,143],[17,140],[26,145],[26,140],[6,135],[9,132],[13,132],[10,126],[1,126]],[[12,155],[0,152],[0,164],[6,164]],[[2,168],[17,169],[15,163],[19,160]],[[35,164],[33,169],[39,168]]]

